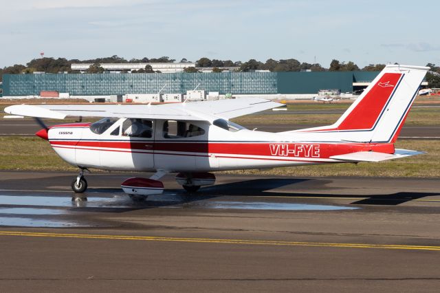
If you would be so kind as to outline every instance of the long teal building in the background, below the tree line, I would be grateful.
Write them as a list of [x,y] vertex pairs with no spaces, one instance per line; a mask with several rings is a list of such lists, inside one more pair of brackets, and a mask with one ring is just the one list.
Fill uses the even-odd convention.
[[[172,64],[172,63],[171,63]],[[379,72],[197,72],[148,74],[4,74],[3,97],[69,97],[127,94],[187,94],[195,89],[219,95],[316,95],[321,89],[353,93]],[[61,96],[61,94],[60,94]]]

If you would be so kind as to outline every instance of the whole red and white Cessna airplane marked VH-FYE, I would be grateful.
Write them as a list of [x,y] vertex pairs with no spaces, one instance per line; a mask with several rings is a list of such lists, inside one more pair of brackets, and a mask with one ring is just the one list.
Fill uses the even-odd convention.
[[103,117],[94,123],[45,127],[63,160],[78,166],[72,189],[87,188],[87,168],[141,171],[150,178],[122,182],[131,195],[162,193],[159,179],[177,173],[186,191],[214,184],[211,171],[280,166],[379,162],[417,151],[395,149],[428,67],[387,65],[336,123],[269,133],[252,131],[231,118],[281,106],[261,98],[239,98],[168,105],[14,105],[5,112],[39,118]]

